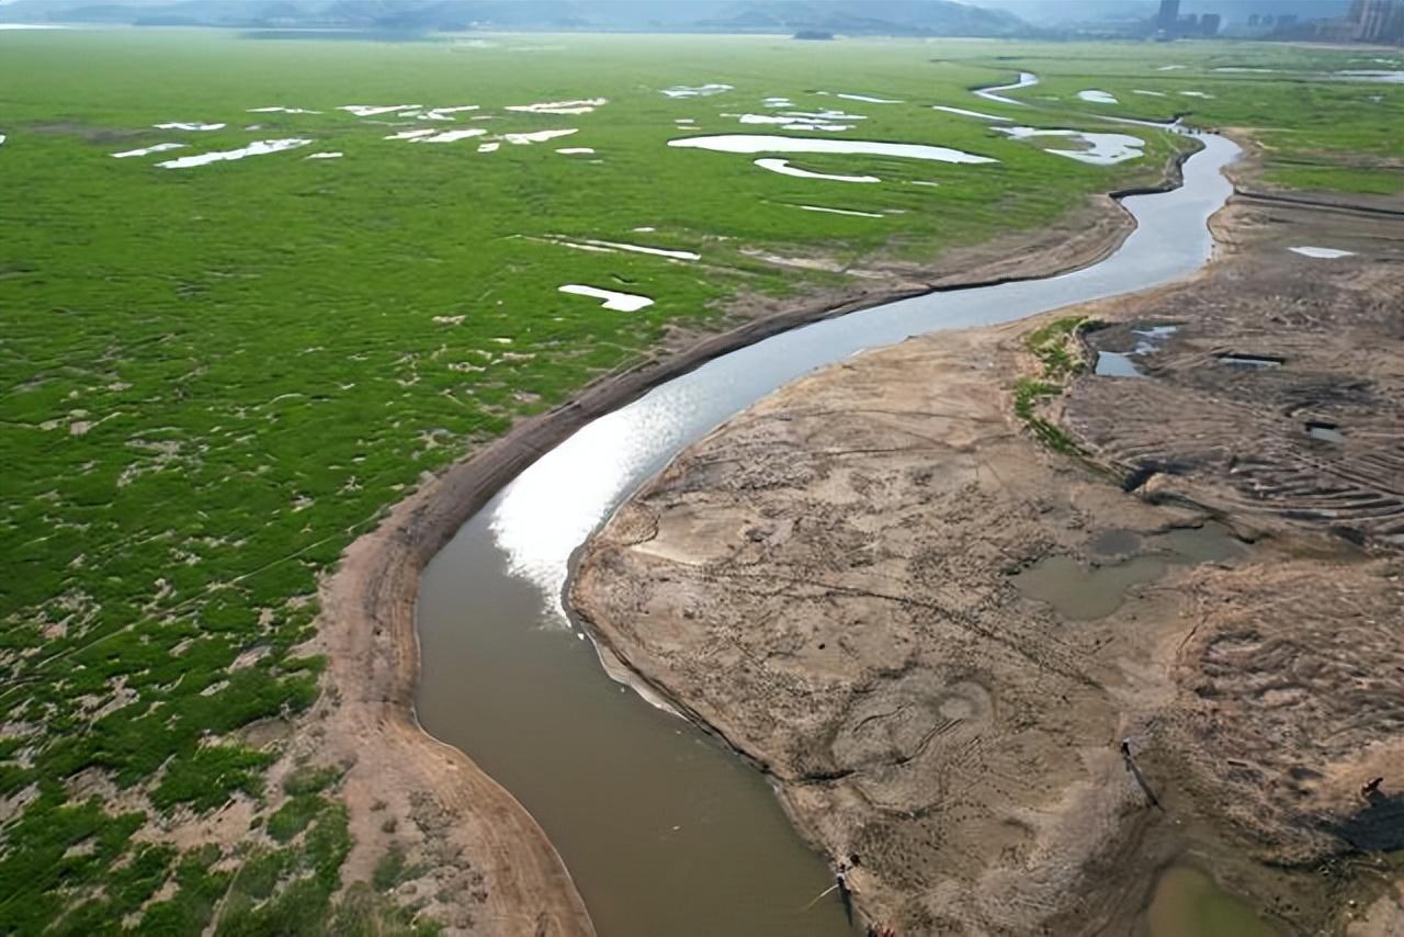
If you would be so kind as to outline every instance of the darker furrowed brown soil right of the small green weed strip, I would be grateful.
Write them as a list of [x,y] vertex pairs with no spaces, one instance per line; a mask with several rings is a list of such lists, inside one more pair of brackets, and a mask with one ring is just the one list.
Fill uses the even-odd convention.
[[[1134,347],[1137,322],[1188,327],[1139,358],[1153,381],[1078,381],[1064,423],[1099,462],[1155,472],[1164,497],[1404,546],[1404,226],[1244,199],[1220,229],[1247,257],[1212,282],[1088,309],[1136,317],[1091,333],[1092,354]],[[1303,244],[1355,256],[1287,250]]]

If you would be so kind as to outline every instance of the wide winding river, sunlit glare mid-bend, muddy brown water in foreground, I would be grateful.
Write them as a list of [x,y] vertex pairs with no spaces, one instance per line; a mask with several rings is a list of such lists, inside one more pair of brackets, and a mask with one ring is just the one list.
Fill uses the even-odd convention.
[[1213,250],[1231,192],[1220,136],[1184,185],[1123,199],[1137,228],[1059,277],[953,289],[817,322],[715,358],[545,452],[479,510],[421,580],[417,708],[536,816],[605,937],[852,933],[824,861],[762,775],[605,679],[562,608],[571,553],[678,451],[755,399],[863,348],[1146,289]]

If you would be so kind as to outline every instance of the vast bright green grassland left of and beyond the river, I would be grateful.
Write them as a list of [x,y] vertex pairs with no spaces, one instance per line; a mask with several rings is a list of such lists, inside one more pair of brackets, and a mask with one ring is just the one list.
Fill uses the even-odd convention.
[[[1220,44],[0,34],[0,933],[184,934],[212,917],[222,934],[407,927],[413,909],[375,893],[402,877],[393,857],[333,907],[350,847],[338,775],[307,768],[270,785],[278,746],[249,732],[316,701],[322,662],[299,646],[313,634],[317,576],[352,538],[423,472],[636,361],[670,325],[722,327],[736,296],[842,281],[747,249],[931,263],[1046,223],[1090,192],[1154,181],[1191,146],[1134,128],[1146,157],[1087,166],[932,104],[1125,131],[1088,117],[1097,108],[1075,90],[1129,104],[1133,87],[1193,84],[1216,97],[1111,110],[1271,128],[1262,139],[1290,156],[1269,164],[1280,184],[1398,191],[1397,166],[1351,160],[1398,155],[1404,89],[1206,72],[1283,55]],[[1324,67],[1353,67],[1351,55],[1311,53]],[[1167,62],[1188,67],[1154,70]],[[1045,79],[1019,93],[1032,107],[970,97],[1019,69]],[[709,81],[736,90],[660,93]],[[859,185],[665,145],[682,133],[677,118],[705,133],[782,132],[720,117],[765,112],[768,96],[868,117],[840,136],[1000,162],[793,157],[883,180]],[[608,104],[583,115],[503,110],[594,97]],[[386,140],[400,128],[336,110],[400,103],[482,107],[441,129],[580,132],[479,153],[476,139]],[[247,112],[268,105],[323,114]],[[152,128],[166,121],[229,126]],[[314,143],[154,166],[284,136]],[[111,157],[168,140],[190,146]],[[344,157],[303,159],[314,150]],[[656,232],[635,233],[643,226]],[[702,260],[542,240],[557,235]],[[656,305],[609,312],[557,291],[571,282]],[[229,798],[257,806],[244,841],[181,851],[161,839],[160,822]]]

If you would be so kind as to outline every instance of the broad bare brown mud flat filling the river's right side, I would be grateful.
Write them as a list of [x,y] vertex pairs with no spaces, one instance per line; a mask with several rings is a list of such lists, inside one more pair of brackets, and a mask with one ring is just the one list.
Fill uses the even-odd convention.
[[[574,608],[769,771],[827,854],[859,857],[859,909],[897,933],[1144,933],[1172,863],[1283,933],[1397,933],[1375,865],[1404,847],[1398,223],[1236,199],[1226,256],[1188,284],[799,381],[621,509]],[[1283,250],[1314,240],[1356,256]],[[1074,312],[1111,323],[1087,357],[1179,326],[1147,376],[1087,374],[1050,409],[1087,462],[1012,419],[1022,336]],[[1174,473],[1123,492],[1148,464]],[[1168,565],[1102,618],[1011,582],[1210,518],[1252,545]]]

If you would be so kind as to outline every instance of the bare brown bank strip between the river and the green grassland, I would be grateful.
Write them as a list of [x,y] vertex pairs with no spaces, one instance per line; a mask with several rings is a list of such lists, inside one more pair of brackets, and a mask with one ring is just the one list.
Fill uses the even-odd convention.
[[[1178,185],[1185,157],[1168,164],[1161,185],[1136,192]],[[1126,194],[1134,192],[1116,197]],[[428,881],[462,884],[462,892],[473,895],[473,900],[427,909],[451,933],[475,933],[487,923],[500,934],[594,933],[564,864],[525,808],[469,756],[424,732],[414,715],[420,573],[458,528],[541,452],[650,388],[734,348],[907,296],[1077,270],[1112,253],[1133,228],[1113,197],[1094,197],[1056,225],[952,250],[920,277],[901,268],[885,271],[890,274],[886,280],[837,294],[779,308],[760,303],[746,309],[751,317],[739,327],[701,337],[684,334],[682,347],[600,378],[570,402],[518,423],[425,479],[376,530],[347,549],[322,589],[323,614],[313,649],[329,657],[329,687],[309,718],[312,740],[295,749],[298,757],[352,766],[345,798],[355,848],[344,878],[368,879],[378,858],[395,844],[431,870]],[[406,830],[417,832],[406,836]]]

